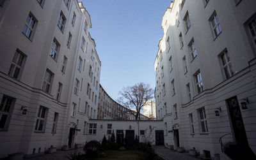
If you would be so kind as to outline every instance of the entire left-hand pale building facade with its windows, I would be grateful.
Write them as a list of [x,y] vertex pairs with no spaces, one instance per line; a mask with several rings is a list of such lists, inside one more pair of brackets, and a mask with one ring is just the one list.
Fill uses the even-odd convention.
[[83,3],[0,2],[0,157],[85,143],[101,62]]

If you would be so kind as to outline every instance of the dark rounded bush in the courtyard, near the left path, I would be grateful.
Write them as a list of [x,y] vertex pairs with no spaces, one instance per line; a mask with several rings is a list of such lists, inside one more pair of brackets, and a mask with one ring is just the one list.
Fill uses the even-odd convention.
[[86,157],[96,158],[99,157],[102,146],[97,140],[92,140],[84,145],[84,151],[86,152]]

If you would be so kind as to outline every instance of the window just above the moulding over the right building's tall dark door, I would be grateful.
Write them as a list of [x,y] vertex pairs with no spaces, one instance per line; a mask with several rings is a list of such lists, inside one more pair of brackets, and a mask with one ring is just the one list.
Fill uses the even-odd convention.
[[221,59],[221,66],[223,69],[223,73],[225,73],[225,78],[230,78],[230,76],[234,75],[232,65],[230,62],[230,58],[228,56],[228,51],[223,51],[222,54],[219,55]]

